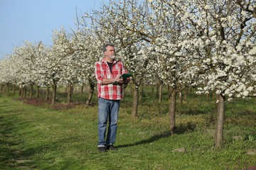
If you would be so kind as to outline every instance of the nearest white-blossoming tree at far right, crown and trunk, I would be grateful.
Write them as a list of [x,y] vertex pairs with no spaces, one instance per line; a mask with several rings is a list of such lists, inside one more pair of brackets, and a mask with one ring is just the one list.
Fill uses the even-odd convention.
[[[255,9],[253,1],[166,1],[175,6],[191,38],[183,47],[193,55],[198,93],[216,91],[215,146],[223,140],[226,98],[255,96]],[[246,10],[247,9],[247,10]]]

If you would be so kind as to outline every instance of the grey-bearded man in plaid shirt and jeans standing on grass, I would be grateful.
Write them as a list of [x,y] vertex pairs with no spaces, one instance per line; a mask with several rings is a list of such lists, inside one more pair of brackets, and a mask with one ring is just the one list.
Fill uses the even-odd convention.
[[[117,117],[119,112],[119,103],[122,99],[122,84],[128,84],[129,79],[123,80],[119,77],[127,73],[122,62],[115,60],[114,45],[107,43],[103,46],[105,58],[95,65],[95,76],[97,79],[98,91],[98,135],[99,152],[106,152],[106,149],[118,150],[114,147],[117,135]],[[117,81],[118,84],[112,84]],[[107,130],[107,119],[109,127]],[[107,139],[105,134],[107,130]]]

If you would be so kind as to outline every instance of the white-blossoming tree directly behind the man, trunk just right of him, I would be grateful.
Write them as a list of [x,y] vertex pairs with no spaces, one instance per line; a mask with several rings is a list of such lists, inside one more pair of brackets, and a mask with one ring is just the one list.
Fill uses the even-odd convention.
[[[148,72],[149,58],[140,52],[143,48],[142,37],[130,29],[144,27],[144,6],[138,1],[112,1],[102,7],[102,11],[92,13],[95,33],[104,42],[113,42],[116,46],[117,60],[122,60],[127,71],[134,74],[130,83],[133,89],[132,115],[137,115],[139,85]],[[136,23],[136,24],[134,24]]]

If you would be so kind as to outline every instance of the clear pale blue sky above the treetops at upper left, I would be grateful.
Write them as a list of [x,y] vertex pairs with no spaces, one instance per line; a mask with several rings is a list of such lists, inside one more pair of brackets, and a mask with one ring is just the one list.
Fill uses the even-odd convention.
[[23,41],[52,45],[52,30],[75,28],[78,15],[110,0],[0,0],[0,60]]

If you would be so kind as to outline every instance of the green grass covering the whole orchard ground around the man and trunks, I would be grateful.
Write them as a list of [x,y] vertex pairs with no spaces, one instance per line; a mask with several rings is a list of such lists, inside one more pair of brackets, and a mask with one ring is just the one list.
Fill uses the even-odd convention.
[[[256,169],[256,154],[247,154],[256,151],[255,99],[227,103],[223,146],[215,148],[214,97],[190,94],[182,105],[177,98],[171,135],[168,101],[157,103],[146,90],[136,119],[127,92],[119,111],[119,151],[107,153],[97,150],[95,96],[95,106],[54,111],[1,95],[0,169]],[[176,151],[181,148],[186,152]]]

